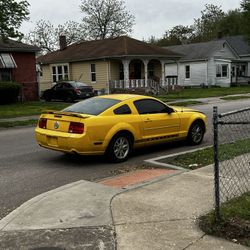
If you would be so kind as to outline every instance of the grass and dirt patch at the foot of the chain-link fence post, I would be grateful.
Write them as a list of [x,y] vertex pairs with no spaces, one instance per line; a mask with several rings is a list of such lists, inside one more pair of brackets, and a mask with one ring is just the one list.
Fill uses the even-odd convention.
[[207,234],[233,240],[250,247],[250,192],[222,204],[220,221],[211,211],[200,218],[200,227]]

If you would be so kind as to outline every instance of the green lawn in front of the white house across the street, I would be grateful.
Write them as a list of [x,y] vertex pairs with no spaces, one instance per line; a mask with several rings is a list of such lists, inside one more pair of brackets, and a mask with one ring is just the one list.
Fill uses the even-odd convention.
[[231,87],[231,88],[191,88],[183,89],[178,92],[169,93],[166,95],[157,96],[162,101],[171,101],[173,99],[194,99],[194,98],[206,98],[206,97],[216,97],[216,96],[227,96],[227,95],[237,95],[250,93],[250,86],[243,87]]

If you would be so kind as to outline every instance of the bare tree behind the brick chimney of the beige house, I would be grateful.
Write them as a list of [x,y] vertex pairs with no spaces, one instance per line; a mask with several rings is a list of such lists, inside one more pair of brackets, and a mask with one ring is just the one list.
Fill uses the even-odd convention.
[[24,40],[41,48],[42,54],[59,49],[59,36],[65,35],[67,45],[85,39],[83,27],[74,21],[67,21],[55,27],[49,21],[39,20],[34,30],[30,31]]

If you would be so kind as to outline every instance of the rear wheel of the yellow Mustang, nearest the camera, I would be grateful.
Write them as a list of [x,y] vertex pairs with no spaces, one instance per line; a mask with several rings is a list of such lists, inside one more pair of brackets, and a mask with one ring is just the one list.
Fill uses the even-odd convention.
[[124,162],[128,159],[132,150],[132,140],[127,134],[115,135],[107,148],[106,156],[113,163]]

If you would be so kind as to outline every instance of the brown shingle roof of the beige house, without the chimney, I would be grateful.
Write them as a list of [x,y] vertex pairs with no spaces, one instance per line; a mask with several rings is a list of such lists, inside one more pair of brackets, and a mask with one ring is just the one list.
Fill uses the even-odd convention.
[[74,43],[64,50],[58,50],[39,57],[38,62],[49,64],[126,56],[181,57],[180,54],[170,50],[147,44],[127,36],[121,36],[104,40]]

